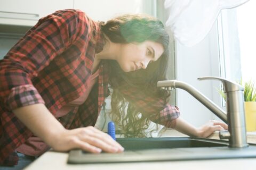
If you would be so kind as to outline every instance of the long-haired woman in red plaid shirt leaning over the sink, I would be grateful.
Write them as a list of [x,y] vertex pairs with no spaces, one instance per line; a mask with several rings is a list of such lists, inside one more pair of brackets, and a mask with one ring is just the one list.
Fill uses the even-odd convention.
[[165,80],[168,43],[163,24],[149,16],[104,24],[62,10],[40,19],[0,61],[0,164],[17,164],[17,152],[38,156],[50,147],[122,152],[93,128],[108,85],[126,136],[141,136],[148,120],[198,137],[226,129],[220,122],[189,125],[167,104],[169,94],[156,88]]

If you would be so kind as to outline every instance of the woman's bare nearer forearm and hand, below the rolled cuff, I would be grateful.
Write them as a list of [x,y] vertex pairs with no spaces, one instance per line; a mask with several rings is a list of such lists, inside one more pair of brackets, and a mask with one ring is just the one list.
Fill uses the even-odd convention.
[[122,152],[123,148],[108,134],[92,126],[66,130],[44,104],[13,110],[27,128],[56,151],[81,148],[89,152]]

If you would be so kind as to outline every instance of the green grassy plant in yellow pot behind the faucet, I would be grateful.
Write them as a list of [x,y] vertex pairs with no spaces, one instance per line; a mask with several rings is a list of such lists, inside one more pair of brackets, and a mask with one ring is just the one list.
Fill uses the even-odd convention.
[[[242,85],[242,81],[239,84]],[[256,88],[254,88],[253,81],[245,82],[243,87],[246,130],[256,131]],[[219,92],[226,100],[225,92],[222,90],[219,90]]]

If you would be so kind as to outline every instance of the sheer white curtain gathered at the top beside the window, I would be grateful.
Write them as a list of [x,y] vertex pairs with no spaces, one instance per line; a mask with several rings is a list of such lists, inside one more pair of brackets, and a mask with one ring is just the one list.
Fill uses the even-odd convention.
[[249,0],[165,0],[169,12],[166,26],[182,45],[199,43],[212,28],[220,10],[233,8]]

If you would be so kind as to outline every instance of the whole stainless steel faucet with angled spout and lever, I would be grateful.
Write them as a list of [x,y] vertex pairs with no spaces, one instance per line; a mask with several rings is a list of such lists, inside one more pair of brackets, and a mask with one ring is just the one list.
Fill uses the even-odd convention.
[[180,88],[189,92],[204,106],[210,109],[222,121],[228,124],[228,131],[220,131],[220,139],[229,139],[229,147],[244,148],[249,146],[246,139],[245,115],[244,115],[244,88],[237,83],[218,77],[201,77],[198,80],[214,79],[223,83],[223,90],[227,95],[227,112],[213,103],[188,83],[177,80],[158,81],[157,87],[170,90]]

